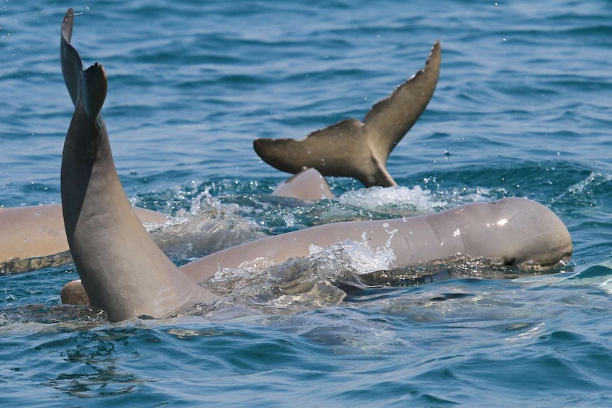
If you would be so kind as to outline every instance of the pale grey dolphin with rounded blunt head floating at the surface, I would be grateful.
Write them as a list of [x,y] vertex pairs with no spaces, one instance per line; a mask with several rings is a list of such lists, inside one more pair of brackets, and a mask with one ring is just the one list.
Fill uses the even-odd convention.
[[346,240],[373,249],[390,248],[395,255],[390,268],[466,255],[499,265],[550,269],[572,255],[572,238],[550,209],[530,199],[505,198],[425,216],[315,226],[221,250],[181,270],[202,282],[222,268],[238,268],[248,260],[282,263],[309,255],[311,245],[324,248]]

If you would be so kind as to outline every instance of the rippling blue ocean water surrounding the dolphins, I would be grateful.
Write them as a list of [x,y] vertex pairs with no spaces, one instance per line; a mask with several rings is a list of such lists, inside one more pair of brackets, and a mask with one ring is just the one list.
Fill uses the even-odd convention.
[[[610,1],[1,0],[2,206],[60,202],[69,6],[72,43],[109,75],[103,114],[128,196],[187,236],[177,263],[219,231],[251,239],[501,197],[549,206],[574,257],[545,275],[456,265],[363,287],[339,273],[385,254],[340,248],[298,260],[297,277],[257,265],[217,277],[216,310],[117,324],[59,306],[72,265],[1,276],[2,406],[611,403],[612,269],[597,266],[612,258]],[[338,200],[268,197],[287,175],[254,138],[363,118],[436,39],[435,96],[388,163],[402,187],[334,178]]]

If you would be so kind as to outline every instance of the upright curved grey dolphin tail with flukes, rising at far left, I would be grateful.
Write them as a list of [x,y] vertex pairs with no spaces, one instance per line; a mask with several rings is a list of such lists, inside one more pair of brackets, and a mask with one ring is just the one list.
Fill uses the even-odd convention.
[[[180,272],[149,237],[121,187],[100,116],[107,79],[102,65],[78,72],[70,45],[74,12],[62,24],[62,70],[75,96],[64,143],[62,212],[70,253],[93,307],[112,321],[156,318],[217,297]],[[72,48],[72,50],[70,50]]]

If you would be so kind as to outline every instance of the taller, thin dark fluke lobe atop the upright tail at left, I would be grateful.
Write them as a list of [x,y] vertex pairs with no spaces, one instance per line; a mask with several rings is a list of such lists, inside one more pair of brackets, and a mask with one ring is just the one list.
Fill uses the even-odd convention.
[[83,63],[77,50],[70,45],[72,38],[72,26],[75,21],[75,11],[70,8],[66,12],[64,21],[62,21],[62,35],[60,35],[60,62],[62,64],[62,75],[72,105],[77,106],[79,97],[79,82],[81,72],[83,71]]

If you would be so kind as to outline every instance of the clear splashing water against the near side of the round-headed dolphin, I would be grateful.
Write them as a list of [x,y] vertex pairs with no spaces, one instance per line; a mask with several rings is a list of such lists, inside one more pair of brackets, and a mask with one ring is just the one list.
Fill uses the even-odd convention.
[[266,258],[226,268],[207,282],[217,294],[256,308],[282,313],[336,304],[346,297],[337,282],[388,269],[395,259],[390,248],[370,248],[366,243],[344,241],[328,248],[311,248],[311,254],[276,265]]

